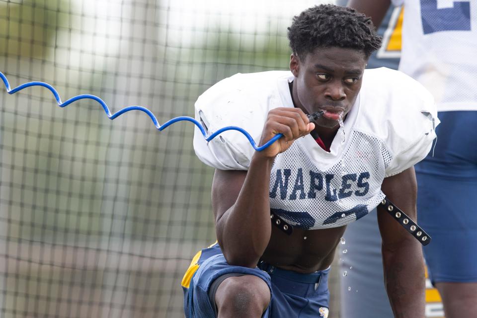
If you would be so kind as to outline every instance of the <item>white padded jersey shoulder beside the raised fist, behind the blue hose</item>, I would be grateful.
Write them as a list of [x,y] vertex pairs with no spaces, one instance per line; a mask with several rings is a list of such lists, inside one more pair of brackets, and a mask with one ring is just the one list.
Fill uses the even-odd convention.
[[[227,126],[247,131],[258,146],[268,111],[284,107],[277,79],[290,72],[237,74],[206,90],[195,103],[195,118],[207,135]],[[196,127],[194,150],[204,163],[222,170],[247,170],[255,152],[239,131],[226,131],[207,143]]]

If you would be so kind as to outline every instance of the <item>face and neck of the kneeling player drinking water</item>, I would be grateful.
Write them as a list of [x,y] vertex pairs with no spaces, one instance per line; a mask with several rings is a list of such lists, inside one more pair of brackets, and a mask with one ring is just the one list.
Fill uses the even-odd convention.
[[[336,47],[316,50],[302,59],[292,55],[290,70],[296,78],[292,87],[295,107],[307,114],[318,110],[342,112],[345,118],[361,89],[366,62],[362,52]],[[339,124],[336,119],[326,117],[318,119],[312,136],[319,136],[329,148]]]

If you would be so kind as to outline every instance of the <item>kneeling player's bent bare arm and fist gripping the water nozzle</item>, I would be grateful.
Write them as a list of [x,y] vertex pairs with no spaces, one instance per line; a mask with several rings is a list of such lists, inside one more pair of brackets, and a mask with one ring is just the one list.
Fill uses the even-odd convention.
[[248,171],[216,170],[212,207],[216,234],[227,262],[255,267],[270,240],[270,170],[275,157],[309,134],[315,125],[299,108],[276,108],[268,113],[260,145],[278,133],[283,137],[255,152]]

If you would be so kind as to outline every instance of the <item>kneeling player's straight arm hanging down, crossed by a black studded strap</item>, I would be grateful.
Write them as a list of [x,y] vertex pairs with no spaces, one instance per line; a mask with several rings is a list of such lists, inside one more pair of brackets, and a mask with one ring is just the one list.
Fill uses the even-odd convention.
[[[381,189],[416,221],[417,184],[413,167],[385,178]],[[378,206],[378,224],[383,239],[385,286],[394,315],[423,318],[425,278],[421,245],[381,206]]]

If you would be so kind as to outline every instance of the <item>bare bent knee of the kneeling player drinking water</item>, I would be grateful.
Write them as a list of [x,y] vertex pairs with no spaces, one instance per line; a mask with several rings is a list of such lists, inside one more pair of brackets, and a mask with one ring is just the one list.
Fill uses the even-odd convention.
[[253,275],[229,277],[219,285],[215,302],[219,317],[260,317],[270,302],[270,289]]

